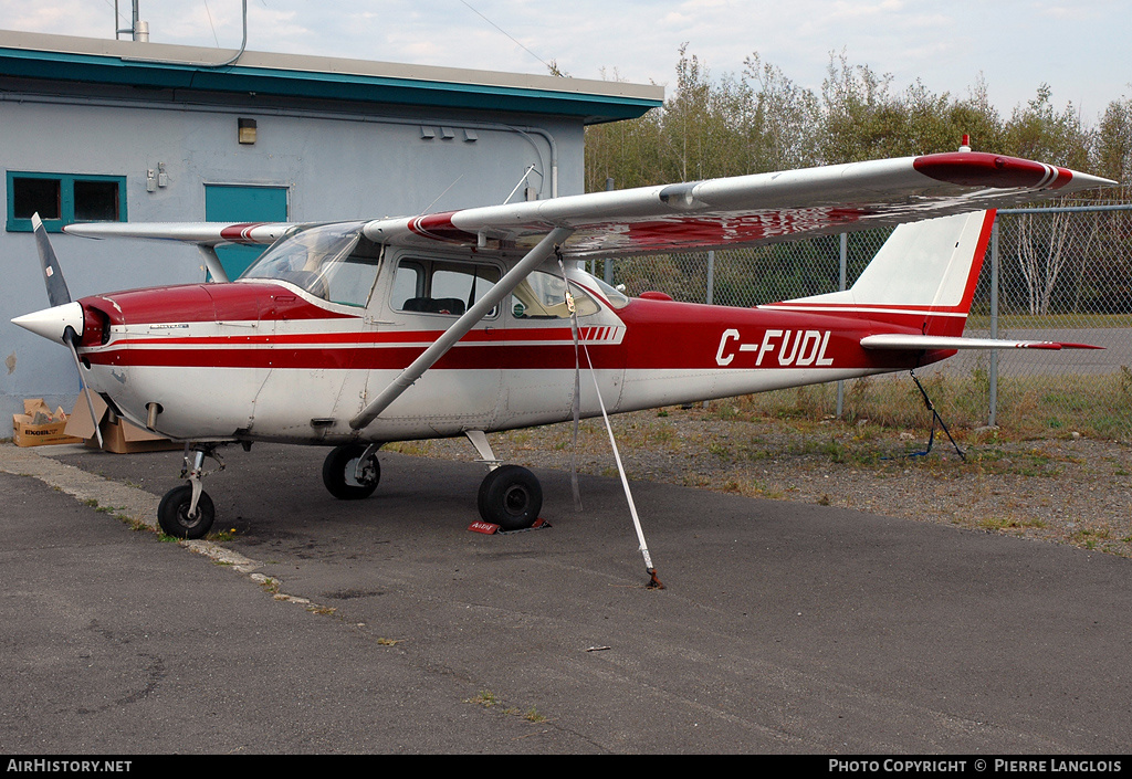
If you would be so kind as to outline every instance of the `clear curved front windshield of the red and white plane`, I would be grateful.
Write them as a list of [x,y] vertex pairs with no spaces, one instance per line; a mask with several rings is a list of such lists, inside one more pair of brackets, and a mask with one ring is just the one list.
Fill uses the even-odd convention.
[[362,222],[308,228],[265,251],[240,279],[277,279],[346,306],[365,306],[377,280],[381,247],[361,234]]

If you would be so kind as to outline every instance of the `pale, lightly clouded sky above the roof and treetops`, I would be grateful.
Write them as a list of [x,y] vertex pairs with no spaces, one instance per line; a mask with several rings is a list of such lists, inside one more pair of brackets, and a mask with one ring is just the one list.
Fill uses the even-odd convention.
[[[120,27],[131,1],[118,0]],[[1132,96],[1125,0],[247,0],[252,51],[661,84],[681,44],[713,77],[757,53],[820,92],[831,57],[1003,117],[1040,84],[1095,125]],[[151,41],[238,49],[240,0],[139,0]],[[0,27],[114,37],[114,0],[0,0]],[[123,35],[122,37],[129,37]]]

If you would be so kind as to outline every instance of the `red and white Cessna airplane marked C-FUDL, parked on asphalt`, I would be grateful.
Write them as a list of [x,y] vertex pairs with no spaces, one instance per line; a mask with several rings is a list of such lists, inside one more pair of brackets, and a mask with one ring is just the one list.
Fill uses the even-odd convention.
[[[465,435],[491,464],[483,519],[530,527],[538,480],[484,434],[908,370],[958,349],[1079,344],[962,337],[990,208],[1113,183],[969,152],[334,224],[76,224],[75,236],[198,245],[212,283],[71,301],[38,231],[52,308],[14,319],[68,345],[89,392],[185,440],[170,534],[214,517],[217,446],[334,447],[338,498],[376,489],[387,442]],[[907,224],[906,224],[907,223]],[[900,224],[852,289],[756,308],[631,299],[576,260]],[[228,282],[215,246],[271,243]],[[578,383],[577,368],[593,380]],[[190,456],[191,455],[191,456]]]

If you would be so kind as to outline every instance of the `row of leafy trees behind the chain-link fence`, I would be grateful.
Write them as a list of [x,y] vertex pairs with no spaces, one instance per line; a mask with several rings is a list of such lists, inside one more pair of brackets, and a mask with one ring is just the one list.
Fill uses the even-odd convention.
[[[744,61],[740,74],[718,77],[687,44],[678,54],[675,88],[661,109],[588,128],[589,191],[604,189],[608,178],[627,188],[947,152],[963,135],[977,151],[1132,181],[1132,102],[1126,97],[1109,103],[1094,130],[1072,104],[1055,108],[1047,84],[1003,119],[990,104],[981,75],[962,99],[933,92],[918,79],[898,91],[892,75],[855,65],[844,53],[831,54],[815,94],[757,52]],[[1030,313],[1048,313],[1071,299],[1084,308],[1116,307],[1112,283],[1098,280],[1132,277],[1127,214],[1098,217],[1094,230],[1079,237],[1066,232],[1064,217],[1019,222],[1018,236],[1004,242],[1017,249],[1015,259],[1007,263],[1009,275],[1015,289],[1024,286]],[[832,249],[820,242],[790,249],[764,247],[721,262],[717,301],[753,305],[795,294],[789,290],[801,289],[799,284],[825,289],[831,283],[822,276],[822,263]],[[620,268],[635,291],[640,284],[696,299],[703,286],[700,265],[683,262],[674,256]]]

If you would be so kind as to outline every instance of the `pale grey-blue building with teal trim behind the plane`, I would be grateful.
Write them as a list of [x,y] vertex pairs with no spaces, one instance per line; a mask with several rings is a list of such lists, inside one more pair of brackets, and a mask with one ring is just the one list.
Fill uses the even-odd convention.
[[[583,189],[584,129],[657,86],[0,31],[0,404],[70,409],[67,351],[10,324],[46,306],[31,215],[293,221],[412,215]],[[53,234],[79,298],[205,277],[195,247]],[[234,277],[255,258],[221,249]],[[3,413],[8,413],[5,411]]]

